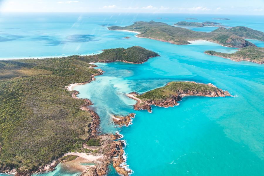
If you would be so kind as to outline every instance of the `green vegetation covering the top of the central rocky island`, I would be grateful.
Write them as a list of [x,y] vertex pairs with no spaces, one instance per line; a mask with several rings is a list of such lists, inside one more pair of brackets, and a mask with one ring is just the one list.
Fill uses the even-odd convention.
[[207,94],[208,92],[215,92],[216,90],[219,89],[208,84],[197,84],[194,82],[170,82],[164,87],[153,89],[144,94],[138,95],[137,98],[143,101],[162,101],[172,97],[179,97],[182,93],[201,92],[203,94]]

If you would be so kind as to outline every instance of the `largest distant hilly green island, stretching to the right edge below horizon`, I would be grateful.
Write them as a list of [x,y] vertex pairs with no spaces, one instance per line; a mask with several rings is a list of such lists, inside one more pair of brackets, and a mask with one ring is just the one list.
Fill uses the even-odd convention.
[[255,46],[244,38],[264,40],[264,33],[251,28],[238,26],[233,28],[218,28],[212,32],[196,32],[186,28],[170,26],[155,21],[138,21],[126,27],[111,26],[109,30],[128,30],[139,32],[137,37],[160,40],[177,45],[190,44],[188,40],[208,40],[228,47],[243,48]]

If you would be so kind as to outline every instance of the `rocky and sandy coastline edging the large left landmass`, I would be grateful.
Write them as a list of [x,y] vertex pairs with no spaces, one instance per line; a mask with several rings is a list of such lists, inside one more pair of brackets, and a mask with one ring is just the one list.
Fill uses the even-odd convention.
[[[93,63],[91,62],[89,64],[93,64]],[[92,67],[97,67],[97,66],[93,65]],[[79,94],[79,92],[73,90],[73,87],[75,87],[76,85],[80,85],[80,84],[88,84],[92,82],[93,80],[95,80],[95,76],[99,76],[104,73],[104,71],[101,69],[95,69],[95,70],[98,70],[99,73],[92,75],[89,81],[70,84],[69,86],[65,86],[65,89],[72,92],[72,98],[80,99],[76,97],[76,95]],[[130,175],[132,173],[132,170],[130,170],[126,165],[126,154],[124,152],[124,148],[126,147],[126,144],[125,144],[126,142],[124,140],[116,141],[117,139],[120,139],[123,136],[118,133],[100,135],[99,132],[97,131],[97,128],[99,127],[99,124],[100,124],[99,115],[95,111],[87,107],[87,106],[93,105],[93,103],[89,99],[82,99],[82,100],[85,101],[85,104],[80,106],[80,109],[83,111],[88,111],[92,117],[92,122],[89,124],[89,130],[88,130],[88,133],[90,133],[90,136],[88,138],[86,137],[86,141],[88,141],[89,139],[103,138],[103,143],[106,143],[107,145],[99,146],[98,149],[96,150],[89,150],[89,151],[92,151],[92,152],[89,152],[89,155],[87,155],[87,153],[78,153],[78,152],[65,153],[60,158],[55,159],[51,163],[48,163],[44,166],[38,167],[36,170],[27,170],[25,172],[18,173],[16,169],[12,169],[12,170],[1,170],[1,173],[14,174],[16,176],[22,176],[22,175],[30,176],[32,174],[48,173],[48,172],[54,171],[56,169],[55,167],[58,164],[63,163],[64,162],[63,157],[65,157],[66,155],[77,155],[79,156],[78,161],[80,160],[80,158],[82,158],[82,160],[87,160],[87,162],[91,161],[97,164],[92,165],[92,166],[90,165],[89,167],[79,166],[80,163],[78,164],[78,161],[75,161],[74,159],[72,161],[69,161],[68,165],[65,166],[65,169],[82,170],[83,168],[86,168],[85,170],[82,170],[81,176],[90,176],[90,175],[103,176],[107,174],[108,166],[111,163],[113,163],[113,166],[116,172],[118,172],[120,175],[124,175],[124,176]],[[129,125],[132,124],[131,121],[129,121]],[[73,168],[70,168],[69,165],[71,165]]]

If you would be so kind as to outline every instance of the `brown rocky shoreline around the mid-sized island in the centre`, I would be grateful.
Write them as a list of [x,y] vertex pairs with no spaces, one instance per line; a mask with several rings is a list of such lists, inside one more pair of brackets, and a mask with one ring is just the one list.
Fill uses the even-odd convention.
[[[195,84],[201,84],[197,82],[191,82]],[[169,84],[169,83],[168,83]],[[167,85],[168,85],[167,84]],[[204,84],[210,87],[217,88],[213,84]],[[202,96],[202,97],[226,97],[231,96],[228,91],[223,91],[222,89],[216,89],[214,92],[197,92],[191,90],[180,90],[179,94],[172,95],[170,98],[165,98],[162,100],[141,100],[137,96],[139,95],[137,92],[131,92],[126,94],[129,98],[134,99],[137,103],[134,105],[135,110],[147,110],[148,112],[152,112],[151,105],[160,106],[160,107],[173,107],[179,105],[178,101],[181,101],[185,96]]]

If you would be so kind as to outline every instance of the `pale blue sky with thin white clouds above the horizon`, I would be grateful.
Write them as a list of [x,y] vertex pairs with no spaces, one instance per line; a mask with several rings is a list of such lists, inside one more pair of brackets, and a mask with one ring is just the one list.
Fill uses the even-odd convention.
[[264,15],[264,0],[0,0],[0,12],[145,12]]

